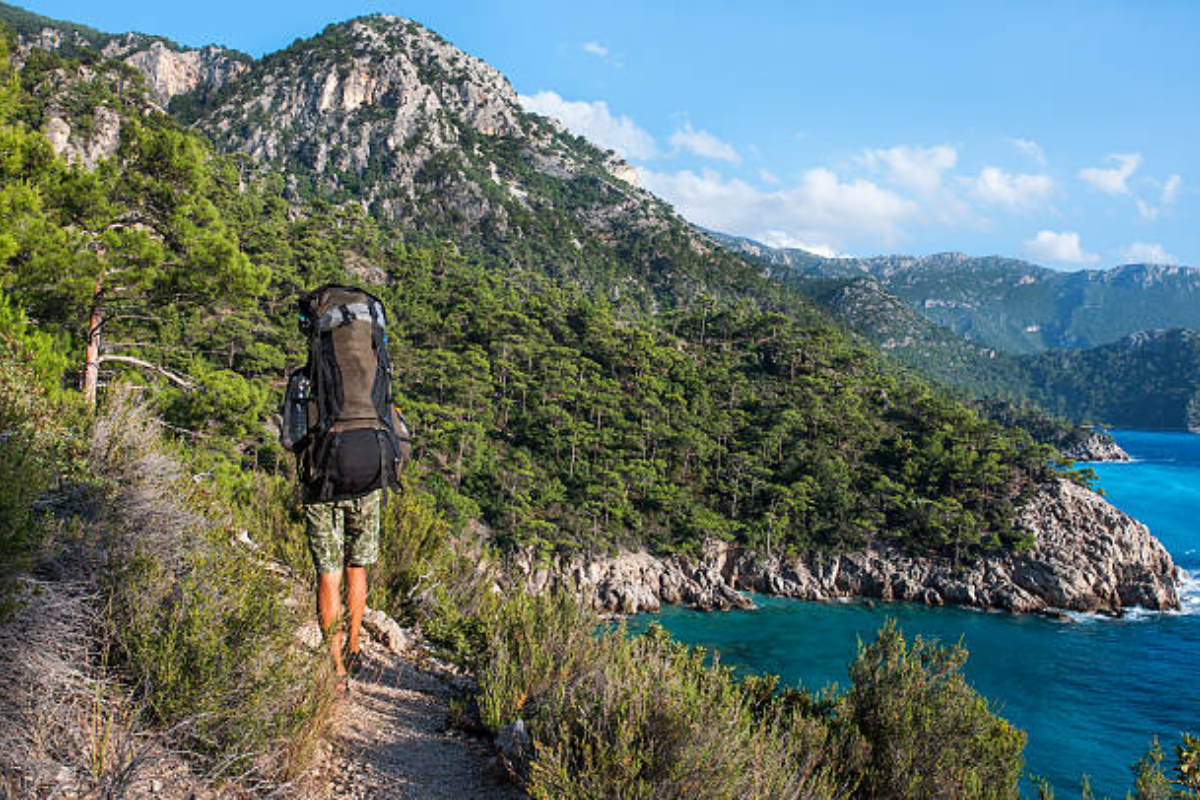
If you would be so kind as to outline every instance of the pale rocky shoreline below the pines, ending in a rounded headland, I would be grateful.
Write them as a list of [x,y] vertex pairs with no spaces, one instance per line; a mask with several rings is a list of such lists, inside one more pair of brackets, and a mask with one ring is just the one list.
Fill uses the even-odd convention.
[[1070,481],[1046,485],[1020,512],[1034,534],[1025,553],[997,552],[955,565],[877,543],[845,554],[768,555],[709,541],[703,555],[575,554],[514,560],[526,584],[562,588],[601,612],[656,612],[662,603],[702,609],[749,608],[755,591],[800,600],[860,597],[1013,613],[1063,610],[1120,615],[1140,606],[1178,608],[1178,569],[1150,530],[1094,492]]

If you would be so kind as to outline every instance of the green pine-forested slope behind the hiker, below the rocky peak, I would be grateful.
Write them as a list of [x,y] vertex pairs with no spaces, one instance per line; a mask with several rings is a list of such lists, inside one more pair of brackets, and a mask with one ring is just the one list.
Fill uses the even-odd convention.
[[[7,127],[23,155],[6,162],[4,289],[74,354],[60,365],[65,385],[85,383],[90,363],[101,383],[155,386],[164,419],[218,473],[290,468],[270,419],[300,351],[292,303],[352,281],[396,320],[396,390],[424,480],[460,522],[481,518],[504,541],[677,549],[715,535],[853,548],[887,531],[925,551],[1025,542],[1013,509],[1046,475],[1045,450],[888,374],[782,287],[733,302],[739,276],[757,271],[728,254],[706,261],[677,218],[661,237],[589,239],[610,265],[626,248],[653,254],[610,282],[644,287],[638,301],[598,297],[599,277],[565,279],[478,242],[460,252],[358,204],[298,200],[288,175],[239,167],[138,110],[121,94],[137,96],[136,78],[121,64],[26,53]],[[92,170],[55,158],[34,132],[73,98],[121,120]],[[85,134],[85,120],[73,130]],[[712,293],[676,283],[704,271],[724,278]],[[647,297],[673,309],[648,313]]]

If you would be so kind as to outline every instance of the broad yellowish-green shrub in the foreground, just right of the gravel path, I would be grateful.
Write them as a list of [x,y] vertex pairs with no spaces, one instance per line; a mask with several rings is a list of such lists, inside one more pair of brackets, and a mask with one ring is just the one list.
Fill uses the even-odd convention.
[[529,723],[535,798],[848,796],[830,728],[775,680],[739,684],[658,626],[601,630],[568,595],[499,602],[478,678],[485,726]]

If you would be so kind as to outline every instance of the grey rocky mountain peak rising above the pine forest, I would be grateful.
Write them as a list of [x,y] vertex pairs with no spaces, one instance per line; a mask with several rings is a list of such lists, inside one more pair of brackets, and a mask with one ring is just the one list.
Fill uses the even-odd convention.
[[331,25],[173,109],[221,149],[284,173],[296,199],[353,199],[407,230],[648,307],[752,287],[808,313],[640,190],[613,152],[524,112],[504,76],[410,20]]

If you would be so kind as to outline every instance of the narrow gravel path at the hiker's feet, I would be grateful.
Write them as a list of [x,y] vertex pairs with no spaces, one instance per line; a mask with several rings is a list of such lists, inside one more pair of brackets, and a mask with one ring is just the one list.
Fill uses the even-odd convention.
[[448,727],[456,692],[446,679],[378,645],[365,645],[362,672],[334,712],[323,770],[329,796],[524,796],[504,775],[491,742]]

